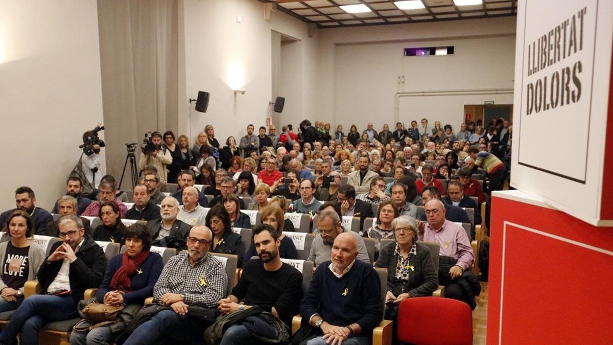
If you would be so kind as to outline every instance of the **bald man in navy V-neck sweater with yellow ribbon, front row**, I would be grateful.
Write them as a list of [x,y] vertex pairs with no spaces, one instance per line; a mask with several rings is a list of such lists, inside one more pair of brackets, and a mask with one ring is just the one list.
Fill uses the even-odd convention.
[[356,260],[357,255],[356,236],[340,233],[332,245],[332,261],[313,274],[300,303],[302,327],[314,328],[316,334],[307,345],[370,344],[383,317],[381,283],[375,268]]

